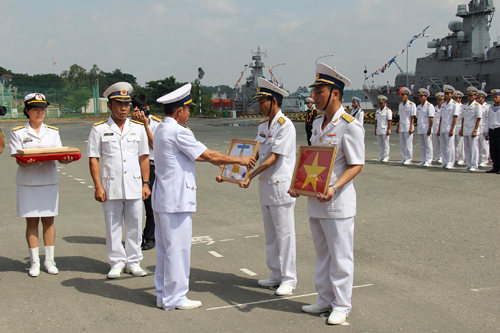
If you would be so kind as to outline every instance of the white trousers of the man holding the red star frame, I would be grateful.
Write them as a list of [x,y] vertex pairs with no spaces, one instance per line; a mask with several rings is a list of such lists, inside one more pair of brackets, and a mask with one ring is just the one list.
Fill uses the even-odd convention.
[[354,217],[309,218],[316,250],[316,303],[349,314],[354,274]]

